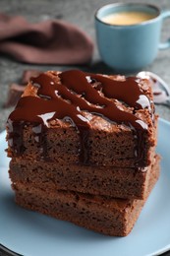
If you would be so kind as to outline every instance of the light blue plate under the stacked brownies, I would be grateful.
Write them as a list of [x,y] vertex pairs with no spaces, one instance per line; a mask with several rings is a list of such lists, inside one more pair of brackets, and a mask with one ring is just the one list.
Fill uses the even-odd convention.
[[29,212],[14,203],[5,132],[0,134],[0,243],[25,256],[143,256],[170,249],[170,123],[159,120],[161,175],[133,231],[104,236]]

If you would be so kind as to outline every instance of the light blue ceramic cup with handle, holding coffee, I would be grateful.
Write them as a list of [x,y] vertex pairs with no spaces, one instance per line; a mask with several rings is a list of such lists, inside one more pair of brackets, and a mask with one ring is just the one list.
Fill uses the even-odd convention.
[[[110,25],[103,18],[120,12],[142,12],[153,18],[130,26]],[[117,72],[141,70],[156,57],[158,49],[170,47],[170,38],[160,43],[162,22],[170,11],[154,5],[114,3],[101,7],[95,14],[97,44],[102,60]]]

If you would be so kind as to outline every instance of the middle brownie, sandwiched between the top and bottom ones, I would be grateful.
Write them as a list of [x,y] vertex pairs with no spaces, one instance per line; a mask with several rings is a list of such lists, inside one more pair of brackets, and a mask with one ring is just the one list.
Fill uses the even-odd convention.
[[46,190],[73,190],[93,195],[143,199],[152,164],[138,168],[85,166],[56,161],[13,159],[10,178]]

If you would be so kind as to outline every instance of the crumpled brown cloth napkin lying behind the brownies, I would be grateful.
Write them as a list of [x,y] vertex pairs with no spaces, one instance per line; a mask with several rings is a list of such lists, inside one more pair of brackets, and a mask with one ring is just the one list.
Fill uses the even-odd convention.
[[58,20],[30,24],[21,16],[0,14],[0,52],[32,64],[85,64],[91,39],[76,26]]

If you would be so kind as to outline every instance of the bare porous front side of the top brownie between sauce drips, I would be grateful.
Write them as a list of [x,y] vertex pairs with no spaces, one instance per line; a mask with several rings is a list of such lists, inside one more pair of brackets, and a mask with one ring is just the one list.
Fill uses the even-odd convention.
[[[98,120],[99,122],[99,120]],[[25,160],[42,160],[42,146],[34,140],[32,126],[25,125],[23,158]],[[49,128],[45,136],[46,154],[49,160],[77,164],[80,162],[80,137],[73,127]],[[155,142],[154,142],[155,143]],[[130,128],[116,127],[114,131],[91,130],[86,141],[88,164],[104,166],[136,167],[136,140]],[[146,145],[143,149],[142,162],[144,166],[151,163],[154,155],[153,147]],[[8,157],[15,158],[15,150],[9,148]]]

